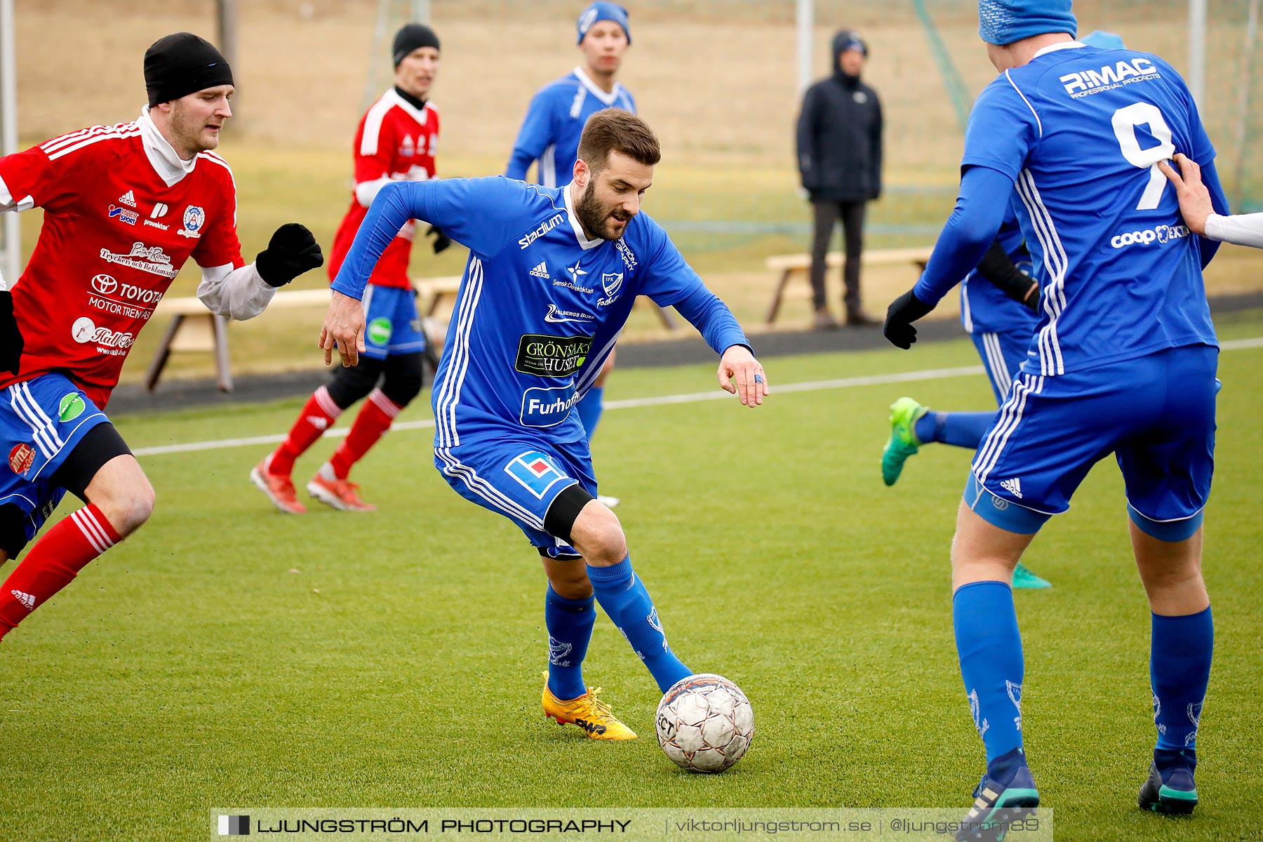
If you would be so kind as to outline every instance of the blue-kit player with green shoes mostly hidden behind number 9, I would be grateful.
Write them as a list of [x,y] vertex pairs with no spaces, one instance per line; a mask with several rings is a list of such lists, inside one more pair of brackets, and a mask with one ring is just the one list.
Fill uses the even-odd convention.
[[[1039,284],[1031,271],[1031,254],[1010,208],[991,247],[960,285],[960,319],[983,360],[997,406],[1004,403],[1027,357],[1038,321]],[[890,404],[890,438],[882,452],[883,482],[894,485],[903,463],[925,444],[941,442],[976,451],[994,419],[994,412],[932,412],[913,398],[899,398]],[[1052,584],[1018,562],[1013,587],[1039,590]]]

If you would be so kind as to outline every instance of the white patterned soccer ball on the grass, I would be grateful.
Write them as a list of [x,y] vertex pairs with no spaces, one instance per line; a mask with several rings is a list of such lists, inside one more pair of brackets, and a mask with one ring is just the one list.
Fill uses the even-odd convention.
[[754,738],[754,711],[741,688],[722,675],[700,673],[676,682],[654,717],[658,745],[688,771],[724,771]]

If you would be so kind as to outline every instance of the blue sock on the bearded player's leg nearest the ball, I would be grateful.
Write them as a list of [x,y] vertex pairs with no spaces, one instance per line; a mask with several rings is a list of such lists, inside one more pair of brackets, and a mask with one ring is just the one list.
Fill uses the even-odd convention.
[[666,693],[681,678],[693,674],[667,646],[658,610],[653,607],[653,600],[644,590],[640,577],[633,572],[630,555],[611,567],[589,564],[587,578],[592,582],[596,601],[649,668],[659,691]]

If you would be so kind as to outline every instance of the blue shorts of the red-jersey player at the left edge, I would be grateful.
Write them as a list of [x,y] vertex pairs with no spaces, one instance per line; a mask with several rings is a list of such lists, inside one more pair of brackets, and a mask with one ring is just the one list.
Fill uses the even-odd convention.
[[53,473],[90,429],[109,420],[59,374],[0,389],[0,447],[9,454],[0,466],[0,505],[23,510],[28,542],[66,494],[52,483]]

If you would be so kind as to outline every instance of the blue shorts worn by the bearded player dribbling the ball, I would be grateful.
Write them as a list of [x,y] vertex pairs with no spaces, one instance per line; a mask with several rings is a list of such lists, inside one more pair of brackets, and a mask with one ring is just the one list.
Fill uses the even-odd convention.
[[544,531],[544,516],[557,495],[575,483],[596,496],[586,439],[560,444],[525,430],[462,438],[456,447],[434,448],[434,467],[458,495],[518,524],[542,554],[580,558],[573,547]]

